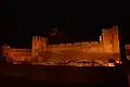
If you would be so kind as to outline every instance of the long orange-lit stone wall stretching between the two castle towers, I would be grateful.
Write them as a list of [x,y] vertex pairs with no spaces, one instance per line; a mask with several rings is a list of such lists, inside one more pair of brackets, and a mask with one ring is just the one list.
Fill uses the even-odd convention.
[[[53,61],[53,60],[88,60],[94,61],[96,59],[107,60],[114,55],[113,49],[112,51],[105,51],[103,44],[84,44],[84,46],[73,46],[72,47],[60,47],[47,49],[48,53],[43,57],[43,60]],[[47,47],[48,48],[48,47]],[[47,59],[48,58],[48,59]],[[118,59],[116,57],[115,59]]]

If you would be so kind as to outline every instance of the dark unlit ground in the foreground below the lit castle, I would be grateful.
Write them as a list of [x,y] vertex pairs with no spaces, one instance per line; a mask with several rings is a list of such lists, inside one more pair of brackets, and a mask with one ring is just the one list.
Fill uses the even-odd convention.
[[65,87],[72,86],[69,83],[84,83],[95,87],[127,87],[127,76],[121,67],[1,65],[0,82],[1,87],[54,86],[60,83]]

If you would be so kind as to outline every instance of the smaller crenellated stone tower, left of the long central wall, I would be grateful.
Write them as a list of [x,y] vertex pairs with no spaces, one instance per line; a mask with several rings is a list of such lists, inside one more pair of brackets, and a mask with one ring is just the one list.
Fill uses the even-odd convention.
[[40,36],[34,36],[32,37],[32,47],[31,47],[31,57],[41,57],[42,52],[47,48],[48,39],[40,37]]

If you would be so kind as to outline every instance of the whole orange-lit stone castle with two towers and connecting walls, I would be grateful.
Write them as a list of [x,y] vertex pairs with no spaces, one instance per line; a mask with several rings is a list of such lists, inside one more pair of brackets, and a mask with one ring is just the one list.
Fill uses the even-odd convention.
[[99,41],[86,41],[74,44],[48,45],[48,38],[32,36],[31,49],[11,48],[3,46],[3,54],[8,57],[6,61],[68,61],[88,60],[95,61],[102,59],[119,58],[118,26],[103,28]]

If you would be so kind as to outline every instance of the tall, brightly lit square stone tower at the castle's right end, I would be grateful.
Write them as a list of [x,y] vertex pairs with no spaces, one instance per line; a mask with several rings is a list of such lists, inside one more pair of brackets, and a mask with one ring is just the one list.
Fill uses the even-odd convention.
[[119,53],[118,26],[102,29],[103,45],[106,52]]

